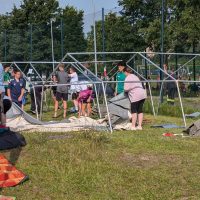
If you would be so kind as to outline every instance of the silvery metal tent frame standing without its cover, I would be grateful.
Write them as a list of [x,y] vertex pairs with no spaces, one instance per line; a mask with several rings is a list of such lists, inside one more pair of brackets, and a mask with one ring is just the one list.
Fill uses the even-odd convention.
[[[150,88],[150,98],[151,98],[151,105],[152,105],[152,110],[153,110],[153,114],[154,116],[156,115],[155,113],[155,108],[154,108],[154,102],[153,102],[153,98],[152,98],[152,92],[151,92],[151,83],[158,83],[160,82],[162,84],[162,87],[160,88],[160,94],[163,90],[163,84],[165,82],[170,82],[173,81],[176,83],[177,86],[177,91],[178,91],[178,98],[179,98],[179,102],[180,102],[180,107],[181,107],[181,112],[182,112],[182,118],[183,118],[183,122],[184,122],[184,126],[186,127],[186,119],[185,119],[185,114],[184,114],[184,108],[183,108],[183,102],[182,102],[182,97],[181,97],[181,93],[180,93],[180,89],[179,89],[179,82],[190,82],[188,80],[176,80],[175,78],[173,78],[168,72],[166,72],[165,70],[163,70],[161,68],[161,66],[159,66],[158,64],[156,64],[155,62],[153,62],[150,58],[147,57],[146,52],[80,52],[80,53],[66,53],[66,55],[63,57],[63,59],[60,62],[40,62],[40,61],[31,61],[31,62],[2,62],[2,63],[10,63],[11,65],[14,65],[15,67],[17,67],[23,74],[24,78],[33,85],[33,90],[34,90],[34,96],[35,96],[35,87],[38,86],[42,86],[42,100],[41,100],[41,113],[40,113],[40,118],[42,118],[42,102],[43,102],[43,92],[44,92],[44,87],[45,86],[51,86],[50,83],[50,78],[51,75],[58,69],[58,65],[60,63],[63,64],[69,64],[72,65],[75,69],[77,69],[77,71],[79,71],[81,74],[83,74],[86,78],[88,78],[88,82],[93,84],[95,87],[95,91],[97,91],[96,89],[96,84],[100,84],[102,85],[103,88],[103,94],[104,94],[104,101],[105,101],[105,106],[106,106],[106,110],[107,110],[107,116],[108,116],[108,122],[109,122],[109,127],[110,127],[110,131],[112,132],[112,123],[111,123],[111,119],[110,119],[110,113],[109,113],[109,108],[108,108],[108,101],[107,101],[107,97],[106,97],[106,92],[105,92],[105,88],[106,85],[109,83],[116,83],[116,81],[105,81],[105,80],[101,80],[100,78],[98,78],[93,72],[91,72],[91,70],[89,70],[88,68],[86,68],[84,66],[84,63],[109,63],[109,62],[114,62],[112,61],[99,61],[99,60],[95,60],[95,61],[80,61],[76,58],[76,56],[78,55],[116,55],[116,54],[121,54],[121,55],[130,55],[130,59],[128,61],[126,61],[127,66],[129,66],[138,76],[140,76],[143,80],[142,82],[147,83],[149,85]],[[200,54],[193,54],[193,53],[160,53],[160,52],[150,52],[148,54],[154,54],[154,55],[181,55],[181,56],[192,56],[192,58],[187,61],[186,63],[184,63],[183,65],[181,65],[174,73],[178,72],[179,70],[181,70],[183,67],[185,67],[188,63],[192,62],[193,60],[195,60],[196,58],[200,57]],[[144,59],[145,62],[150,63],[151,65],[153,65],[156,69],[158,69],[160,72],[162,72],[166,77],[163,80],[160,81],[154,81],[154,80],[148,80],[146,79],[142,74],[140,74],[137,70],[135,70],[134,68],[132,68],[129,63],[134,59],[135,56],[139,56],[141,59]],[[66,59],[70,59],[70,62],[67,62]],[[72,61],[71,61],[72,60]],[[116,60],[115,60],[116,61]],[[119,61],[119,60],[118,60]],[[120,60],[121,61],[121,60]],[[29,64],[30,66],[33,66],[32,68],[34,69],[34,71],[37,72],[37,70],[34,67],[34,64],[56,64],[57,66],[55,67],[55,70],[53,70],[53,72],[50,74],[50,76],[44,81],[42,80],[42,85],[38,85],[35,86],[31,81],[28,80],[28,78],[26,77],[26,75],[23,73],[23,71],[20,69],[20,67],[18,66],[18,64]],[[115,67],[116,68],[116,67]],[[113,71],[114,68],[111,70]],[[84,73],[84,71],[87,72],[87,74]],[[39,74],[39,73],[38,73]],[[91,75],[92,77],[95,78],[95,81],[92,80],[89,76]],[[167,80],[167,78],[171,78],[171,80]],[[40,76],[41,78],[41,76]],[[191,82],[196,82],[199,83],[199,81],[191,81]],[[77,83],[78,85],[80,85],[81,83]],[[71,84],[65,84],[65,85],[71,85]],[[35,104],[36,104],[36,99],[35,99]],[[97,106],[98,106],[98,110],[99,110],[99,116],[101,117],[101,111],[99,108],[99,99],[98,99],[98,94],[97,94]],[[39,113],[37,111],[37,104],[36,104],[36,112],[37,112],[37,118],[39,119]],[[158,114],[158,113],[157,113]]]

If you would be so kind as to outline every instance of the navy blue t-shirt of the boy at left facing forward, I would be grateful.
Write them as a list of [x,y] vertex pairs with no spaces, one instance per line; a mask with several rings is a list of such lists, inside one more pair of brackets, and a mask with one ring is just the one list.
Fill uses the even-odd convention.
[[10,89],[12,101],[18,102],[18,98],[21,95],[21,91],[22,91],[22,89],[25,88],[25,83],[24,83],[23,79],[20,79],[19,81],[14,79],[9,83],[8,88]]

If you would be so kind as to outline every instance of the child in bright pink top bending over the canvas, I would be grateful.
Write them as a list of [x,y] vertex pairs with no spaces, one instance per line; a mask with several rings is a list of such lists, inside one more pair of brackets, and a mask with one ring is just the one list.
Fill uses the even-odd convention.
[[92,91],[92,85],[88,85],[86,90],[82,90],[78,96],[79,104],[79,117],[86,116],[86,106],[87,106],[87,116],[89,117],[92,112],[91,104],[93,102],[94,96]]

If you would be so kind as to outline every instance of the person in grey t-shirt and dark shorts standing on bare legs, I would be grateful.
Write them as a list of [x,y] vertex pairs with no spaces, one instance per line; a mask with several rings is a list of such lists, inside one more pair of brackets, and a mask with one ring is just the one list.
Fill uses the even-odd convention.
[[68,74],[65,72],[65,65],[59,65],[59,71],[56,73],[57,78],[57,89],[56,89],[56,101],[55,101],[55,112],[54,118],[57,118],[57,111],[59,107],[59,101],[63,102],[63,118],[66,118],[67,115],[67,100],[68,100],[68,86],[67,85],[59,85],[59,84],[67,84],[68,83]]

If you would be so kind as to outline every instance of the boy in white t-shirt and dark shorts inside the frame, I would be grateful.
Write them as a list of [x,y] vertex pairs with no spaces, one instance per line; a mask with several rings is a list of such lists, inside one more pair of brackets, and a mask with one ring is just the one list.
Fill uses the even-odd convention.
[[70,77],[70,91],[72,93],[72,100],[74,103],[74,108],[75,108],[75,112],[78,112],[78,85],[76,85],[78,83],[78,75],[76,73],[76,70],[74,67],[70,67],[69,68],[69,77]]

